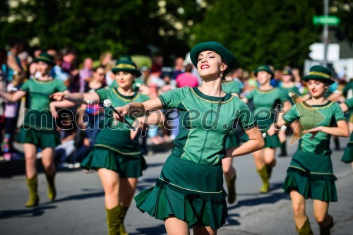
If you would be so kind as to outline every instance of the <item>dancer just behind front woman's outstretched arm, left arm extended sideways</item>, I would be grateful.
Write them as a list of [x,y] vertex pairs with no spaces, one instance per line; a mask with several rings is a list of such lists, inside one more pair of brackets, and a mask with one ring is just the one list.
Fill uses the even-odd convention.
[[[119,59],[112,68],[118,88],[100,89],[88,93],[72,93],[64,95],[61,92],[53,94],[59,100],[56,107],[69,107],[73,103],[67,98],[91,100],[100,102],[109,99],[113,106],[122,106],[130,102],[144,102],[148,96],[133,89],[136,77],[141,73],[136,64],[128,56]],[[113,110],[104,107],[104,128],[98,133],[92,152],[85,157],[81,167],[95,169],[104,188],[104,200],[107,212],[107,226],[110,235],[126,235],[124,218],[136,191],[138,177],[147,168],[145,159],[139,150],[137,129],[133,131],[126,123],[114,123]],[[150,116],[126,116],[126,121],[137,126],[163,121],[162,112],[157,111]]]

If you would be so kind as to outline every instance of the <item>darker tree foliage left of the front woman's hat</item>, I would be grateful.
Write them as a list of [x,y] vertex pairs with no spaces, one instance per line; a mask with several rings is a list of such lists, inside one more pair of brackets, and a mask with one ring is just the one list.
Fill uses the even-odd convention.
[[[3,26],[0,42],[6,44],[11,37],[27,42],[37,38],[43,49],[71,47],[76,49],[80,59],[85,56],[97,58],[104,51],[112,52],[114,57],[121,54],[149,55],[150,48],[157,48],[158,53],[172,58],[169,55],[179,56],[189,49],[185,40],[187,30],[174,25],[183,25],[188,20],[184,12],[196,8],[196,2],[183,0],[178,5],[178,1],[165,1],[164,6],[161,2],[18,1],[17,6],[4,13],[7,18],[0,19]],[[186,6],[184,11],[179,9],[182,5]],[[161,11],[162,8],[165,11]],[[12,20],[8,22],[8,18]]]

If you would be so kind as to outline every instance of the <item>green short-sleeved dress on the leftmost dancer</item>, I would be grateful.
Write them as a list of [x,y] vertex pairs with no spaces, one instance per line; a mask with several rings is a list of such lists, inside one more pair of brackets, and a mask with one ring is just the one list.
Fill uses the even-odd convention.
[[33,78],[23,83],[21,90],[28,92],[28,109],[25,110],[28,112],[25,114],[23,126],[16,136],[16,141],[32,143],[41,148],[56,147],[61,142],[49,109],[51,101],[49,95],[67,90],[66,86],[56,79],[42,81]]

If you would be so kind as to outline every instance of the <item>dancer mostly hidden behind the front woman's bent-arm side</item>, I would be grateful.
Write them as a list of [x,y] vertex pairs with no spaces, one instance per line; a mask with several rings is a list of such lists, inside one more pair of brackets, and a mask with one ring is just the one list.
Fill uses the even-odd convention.
[[[241,92],[240,81],[238,80],[225,80],[222,82],[222,90],[231,95],[239,97]],[[239,137],[237,131],[234,129],[229,132],[228,138],[225,141],[225,147],[237,147],[239,146]],[[225,181],[228,188],[228,203],[232,204],[237,200],[237,191],[235,181],[237,180],[237,171],[233,167],[233,158],[228,157],[222,159],[222,169],[225,174]]]

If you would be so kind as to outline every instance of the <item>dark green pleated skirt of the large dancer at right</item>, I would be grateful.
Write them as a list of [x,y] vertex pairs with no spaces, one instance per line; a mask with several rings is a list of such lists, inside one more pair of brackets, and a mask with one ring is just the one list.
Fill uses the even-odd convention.
[[285,193],[294,189],[306,199],[335,202],[336,180],[330,155],[315,155],[297,150],[287,169],[282,188]]

